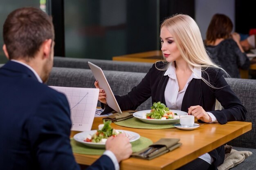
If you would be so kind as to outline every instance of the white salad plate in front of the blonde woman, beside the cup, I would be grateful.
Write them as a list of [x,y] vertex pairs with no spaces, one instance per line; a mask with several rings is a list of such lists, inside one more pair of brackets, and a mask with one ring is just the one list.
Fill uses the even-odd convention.
[[143,118],[143,115],[146,113],[150,113],[151,110],[141,110],[133,113],[133,116],[140,119],[141,121],[148,124],[174,124],[180,121],[181,115],[188,115],[188,113],[183,112],[181,110],[170,110],[173,113],[177,113],[177,116],[174,116],[174,119],[147,119]]

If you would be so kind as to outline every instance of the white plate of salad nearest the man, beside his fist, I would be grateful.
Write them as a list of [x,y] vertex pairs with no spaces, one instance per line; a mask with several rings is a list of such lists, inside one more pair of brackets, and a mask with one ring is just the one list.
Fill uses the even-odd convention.
[[[128,130],[117,130],[117,131],[125,133],[126,136],[130,139],[130,142],[137,141],[140,138],[140,135],[135,133],[135,132],[131,132],[131,131],[128,131]],[[86,146],[89,146],[91,148],[104,149],[105,148],[105,143],[94,143],[94,142],[84,141],[88,135],[93,135],[96,132],[97,132],[97,130],[90,130],[90,131],[77,133],[76,135],[74,135],[74,140],[78,141],[78,142],[80,142],[80,143],[82,143]]]

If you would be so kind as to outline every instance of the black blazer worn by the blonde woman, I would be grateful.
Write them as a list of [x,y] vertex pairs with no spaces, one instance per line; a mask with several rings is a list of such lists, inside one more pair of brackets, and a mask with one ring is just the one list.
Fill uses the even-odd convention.
[[[157,68],[163,68],[165,64],[157,62],[156,66]],[[169,77],[164,76],[165,71],[157,68],[153,64],[138,86],[132,88],[132,91],[127,95],[115,96],[121,110],[135,110],[150,96],[152,104],[153,102],[166,104],[164,91]],[[200,105],[204,110],[213,113],[220,124],[226,124],[227,121],[244,121],[247,110],[227,84],[222,72],[215,68],[208,68],[206,73],[202,72],[202,77],[216,88],[211,88],[202,79],[192,79],[184,94],[181,110],[188,112],[190,106]],[[224,107],[223,110],[214,110],[216,99]],[[113,109],[106,106],[104,113],[110,113],[111,111]],[[223,146],[209,152],[209,154],[215,160],[213,162],[214,168],[223,163],[225,158]]]

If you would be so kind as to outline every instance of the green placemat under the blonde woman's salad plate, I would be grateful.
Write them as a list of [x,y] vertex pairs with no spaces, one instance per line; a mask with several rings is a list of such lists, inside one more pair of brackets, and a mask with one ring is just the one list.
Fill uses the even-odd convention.
[[[136,117],[132,117],[130,119],[126,119],[123,121],[114,122],[119,126],[125,126],[129,128],[139,128],[139,129],[168,129],[175,128],[172,124],[147,124],[137,119]],[[177,122],[176,122],[177,123]]]

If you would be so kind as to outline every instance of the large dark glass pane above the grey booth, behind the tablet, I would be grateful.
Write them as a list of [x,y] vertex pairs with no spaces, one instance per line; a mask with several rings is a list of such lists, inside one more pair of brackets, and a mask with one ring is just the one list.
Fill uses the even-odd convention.
[[159,0],[65,0],[66,57],[112,60],[117,55],[157,50],[158,3]]

